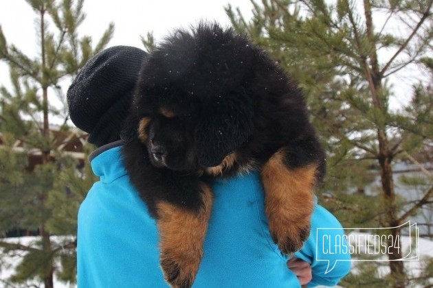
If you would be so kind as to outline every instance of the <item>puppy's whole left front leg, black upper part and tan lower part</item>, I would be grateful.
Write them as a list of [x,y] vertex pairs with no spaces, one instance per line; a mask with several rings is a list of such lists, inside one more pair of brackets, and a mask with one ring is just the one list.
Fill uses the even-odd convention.
[[[146,121],[142,119],[140,125],[146,125]],[[131,182],[157,221],[160,263],[166,281],[172,287],[190,287],[203,254],[212,208],[210,187],[196,176],[157,169],[137,139],[124,146],[123,156]]]

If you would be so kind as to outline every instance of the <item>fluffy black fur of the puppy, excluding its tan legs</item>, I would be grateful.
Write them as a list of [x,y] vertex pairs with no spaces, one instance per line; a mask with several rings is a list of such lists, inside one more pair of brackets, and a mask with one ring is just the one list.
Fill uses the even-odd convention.
[[199,211],[203,183],[217,176],[209,167],[229,154],[222,176],[260,170],[278,151],[288,171],[315,165],[315,182],[324,175],[300,88],[247,37],[216,24],[177,30],[145,60],[125,137],[126,169],[156,219],[159,202]]

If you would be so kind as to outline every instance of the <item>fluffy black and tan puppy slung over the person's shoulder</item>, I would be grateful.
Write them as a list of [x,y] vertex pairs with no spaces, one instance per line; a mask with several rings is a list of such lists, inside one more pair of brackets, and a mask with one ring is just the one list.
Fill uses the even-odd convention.
[[307,239],[324,153],[300,89],[245,36],[202,23],[166,38],[143,64],[124,135],[173,287],[190,287],[199,268],[214,176],[258,169],[280,250]]

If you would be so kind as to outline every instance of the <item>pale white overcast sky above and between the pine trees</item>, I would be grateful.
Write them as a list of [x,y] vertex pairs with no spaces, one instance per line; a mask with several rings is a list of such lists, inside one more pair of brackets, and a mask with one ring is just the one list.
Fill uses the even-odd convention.
[[[260,1],[256,1],[260,3]],[[200,20],[211,20],[230,25],[224,7],[228,3],[239,7],[245,19],[252,16],[250,0],[85,0],[83,11],[87,18],[80,26],[80,35],[92,36],[95,44],[107,29],[110,22],[115,24],[114,45],[131,45],[142,48],[140,35],[153,32],[155,40],[160,40],[170,30],[177,27],[188,27]],[[377,21],[377,16],[375,16]],[[38,53],[35,36],[36,14],[25,0],[0,0],[0,25],[9,43],[13,43],[28,56]],[[401,27],[392,25],[392,32]],[[386,59],[389,57],[384,57]],[[398,86],[396,97],[391,99],[391,106],[407,103],[412,94],[412,78],[419,74],[417,70],[405,70],[390,79],[390,83]],[[0,62],[0,84],[7,84],[8,70]]]

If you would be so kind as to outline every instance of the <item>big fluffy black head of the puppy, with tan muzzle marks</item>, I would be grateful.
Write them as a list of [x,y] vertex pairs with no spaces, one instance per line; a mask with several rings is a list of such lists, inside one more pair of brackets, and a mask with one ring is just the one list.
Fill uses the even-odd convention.
[[178,30],[143,64],[133,114],[136,136],[156,167],[218,166],[253,131],[245,91],[260,50],[218,25]]

